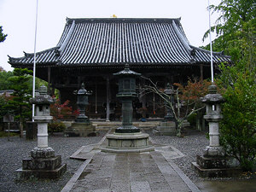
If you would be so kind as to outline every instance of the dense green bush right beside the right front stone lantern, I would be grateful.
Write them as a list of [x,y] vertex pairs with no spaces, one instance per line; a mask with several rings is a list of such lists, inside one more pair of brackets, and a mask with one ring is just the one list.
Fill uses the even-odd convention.
[[[234,68],[223,68],[234,73]],[[256,85],[251,73],[237,73],[224,92],[224,119],[221,142],[228,154],[240,161],[241,167],[252,170],[256,165]]]

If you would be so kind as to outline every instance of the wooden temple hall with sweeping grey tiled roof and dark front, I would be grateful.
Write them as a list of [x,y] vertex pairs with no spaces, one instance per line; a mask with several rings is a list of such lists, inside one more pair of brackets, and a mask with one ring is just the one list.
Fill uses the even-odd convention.
[[[212,55],[214,67],[230,62],[221,52]],[[61,102],[75,104],[73,91],[82,83],[92,90],[87,109],[90,118],[119,119],[121,105],[113,73],[125,64],[163,89],[167,83],[186,83],[189,77],[211,77],[210,52],[189,44],[180,19],[67,18],[59,43],[38,52],[36,62],[36,76],[49,82],[49,93],[60,90]],[[9,64],[32,69],[33,54],[9,57]],[[147,84],[142,78],[137,82],[137,87]],[[148,117],[164,116],[163,103],[153,93],[139,96],[134,113],[142,107],[147,108]]]

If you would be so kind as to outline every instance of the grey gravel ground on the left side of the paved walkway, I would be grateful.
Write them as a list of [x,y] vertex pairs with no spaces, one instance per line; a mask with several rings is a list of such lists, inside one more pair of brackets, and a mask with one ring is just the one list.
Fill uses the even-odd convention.
[[99,143],[106,131],[100,131],[99,137],[49,137],[49,147],[55,150],[55,155],[61,155],[62,163],[67,163],[67,172],[56,180],[28,180],[17,182],[15,170],[22,166],[22,159],[30,156],[32,148],[37,146],[37,141],[27,141],[25,138],[7,137],[0,138],[0,191],[26,192],[47,191],[56,192],[66,185],[73,173],[79,168],[83,161],[71,160],[69,156],[76,152],[81,146],[91,143]]

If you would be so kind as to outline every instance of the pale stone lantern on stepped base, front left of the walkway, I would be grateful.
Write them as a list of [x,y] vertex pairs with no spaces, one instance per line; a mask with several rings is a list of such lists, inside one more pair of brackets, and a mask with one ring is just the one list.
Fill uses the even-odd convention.
[[49,104],[53,103],[51,96],[46,95],[46,87],[40,87],[40,95],[31,99],[36,104],[36,116],[38,123],[38,147],[33,148],[31,157],[22,160],[22,167],[17,172],[20,180],[37,178],[55,179],[66,172],[67,165],[61,165],[61,155],[55,156],[53,148],[48,146],[48,123],[52,119],[49,115]]

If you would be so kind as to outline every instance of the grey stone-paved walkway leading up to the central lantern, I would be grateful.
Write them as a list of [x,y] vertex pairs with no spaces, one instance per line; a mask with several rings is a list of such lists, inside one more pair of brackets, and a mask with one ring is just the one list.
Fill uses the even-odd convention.
[[113,154],[99,150],[103,141],[73,154],[71,158],[86,160],[62,192],[200,191],[172,162],[183,156],[176,148],[155,145],[152,152]]

